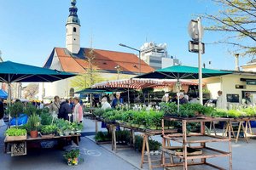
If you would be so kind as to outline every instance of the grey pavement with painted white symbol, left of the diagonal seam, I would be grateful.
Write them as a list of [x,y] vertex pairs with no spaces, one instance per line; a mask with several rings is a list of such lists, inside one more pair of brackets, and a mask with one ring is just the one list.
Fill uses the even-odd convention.
[[[3,150],[3,131],[6,127],[0,127],[0,150]],[[89,169],[89,170],[132,170],[137,169],[119,156],[95,144],[90,139],[81,138],[79,145],[81,157],[84,162],[79,166],[69,167],[63,159],[63,151],[55,149],[28,150],[26,156],[11,157],[0,152],[1,170],[56,170],[56,169]]]

